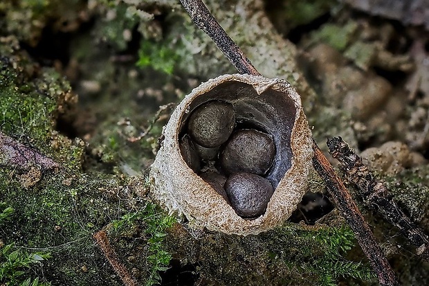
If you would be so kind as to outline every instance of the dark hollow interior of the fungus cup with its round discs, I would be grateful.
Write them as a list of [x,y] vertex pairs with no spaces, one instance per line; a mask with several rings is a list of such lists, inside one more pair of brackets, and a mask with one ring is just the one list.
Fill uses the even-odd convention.
[[[231,80],[200,94],[190,102],[186,109],[189,112],[185,112],[182,115],[179,132],[179,145],[181,146],[181,156],[184,161],[201,179],[210,184],[210,186],[214,186],[213,188],[216,192],[226,199],[228,204],[232,205],[237,215],[246,220],[263,215],[271,195],[273,195],[273,190],[275,191],[275,188],[277,188],[287,170],[291,168],[293,162],[291,133],[298,111],[293,100],[286,94],[272,88],[268,88],[258,94],[252,85]],[[215,114],[219,118],[210,118],[207,114],[210,114],[210,116]],[[215,131],[212,130],[213,125],[216,127]],[[206,141],[204,141],[204,138],[198,138],[198,132],[192,128],[203,129],[201,134],[203,136],[208,134]],[[208,131],[206,132],[206,130]],[[229,150],[229,146],[233,144],[231,141],[239,136],[237,133],[246,133],[243,130],[250,130],[246,132],[253,134],[252,136],[254,137],[250,136],[248,145],[243,143],[242,146],[236,146],[237,150],[255,148],[254,152],[256,153],[252,154],[252,150],[245,150],[244,163],[235,157],[224,159],[226,150]],[[219,134],[216,134],[216,132],[219,132]],[[183,138],[186,138],[185,143],[183,143]],[[217,138],[221,139],[217,141]],[[254,144],[257,140],[261,142],[259,145]],[[217,143],[212,144],[215,141]],[[237,142],[241,143],[241,141]],[[206,144],[206,146],[199,146],[201,143]],[[270,145],[273,145],[272,148]],[[201,153],[201,150],[208,150],[209,153],[210,151],[215,152],[215,155],[210,155],[211,157],[208,159],[208,155]],[[197,152],[197,154],[191,154],[192,152]],[[250,155],[246,152],[250,152]],[[199,158],[199,163],[195,162],[196,157]],[[265,158],[261,157],[269,158],[266,159],[268,160],[267,162],[264,162]],[[262,167],[246,169],[245,166],[244,169],[238,168],[236,170],[237,166],[235,166],[230,170],[224,163],[228,159],[237,166],[246,165],[249,160],[252,163],[251,160],[254,160],[255,164],[259,164],[258,166]],[[195,166],[201,166],[201,168],[195,168]],[[232,184],[228,178],[235,175],[235,173],[241,172],[247,172],[251,175],[241,176],[244,178],[257,175],[255,180],[259,182],[258,184],[261,187],[256,185],[255,188],[261,188],[262,190],[256,196],[266,197],[265,202],[259,202],[258,211],[252,210],[248,212],[249,215],[251,214],[250,216],[247,215],[246,210],[239,209],[239,206],[234,203],[237,201],[237,197],[246,198],[246,195],[241,194],[241,191],[231,190],[228,187],[239,185],[236,182]],[[210,174],[216,174],[217,177],[226,177],[224,186],[219,184],[219,178],[210,179]],[[214,184],[213,181],[216,183]],[[273,190],[268,190],[269,188],[266,188],[264,181],[271,185]],[[243,202],[238,202],[237,204],[241,205]]]

